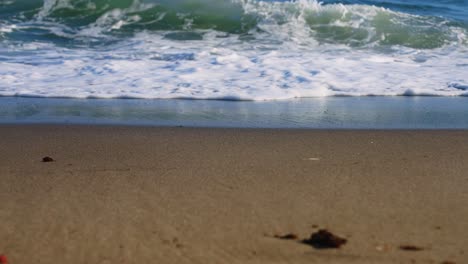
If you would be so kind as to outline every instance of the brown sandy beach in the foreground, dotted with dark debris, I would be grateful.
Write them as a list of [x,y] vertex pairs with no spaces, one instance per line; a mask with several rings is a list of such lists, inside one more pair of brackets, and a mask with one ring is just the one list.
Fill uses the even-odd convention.
[[[3,125],[0,137],[10,264],[468,263],[468,131]],[[301,243],[319,229],[347,243]]]

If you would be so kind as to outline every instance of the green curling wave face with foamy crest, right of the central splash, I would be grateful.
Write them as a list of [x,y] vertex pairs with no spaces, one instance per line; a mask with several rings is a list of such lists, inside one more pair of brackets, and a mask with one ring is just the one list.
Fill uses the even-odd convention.
[[458,41],[459,31],[441,18],[420,17],[369,6],[309,10],[306,21],[321,42],[349,46],[401,45],[433,49]]

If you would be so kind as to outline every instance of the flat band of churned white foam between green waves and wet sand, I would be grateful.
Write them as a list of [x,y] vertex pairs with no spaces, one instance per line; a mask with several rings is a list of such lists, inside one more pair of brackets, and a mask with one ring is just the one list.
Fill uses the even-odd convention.
[[386,54],[330,45],[274,50],[257,49],[235,36],[207,36],[172,41],[144,33],[107,51],[31,44],[34,55],[0,62],[0,94],[243,100],[467,95],[466,50]]

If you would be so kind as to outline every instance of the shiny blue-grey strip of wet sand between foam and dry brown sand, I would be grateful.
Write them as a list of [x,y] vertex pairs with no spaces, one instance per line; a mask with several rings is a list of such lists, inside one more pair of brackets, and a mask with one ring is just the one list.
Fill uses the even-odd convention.
[[285,101],[0,98],[0,124],[305,129],[468,129],[466,97]]

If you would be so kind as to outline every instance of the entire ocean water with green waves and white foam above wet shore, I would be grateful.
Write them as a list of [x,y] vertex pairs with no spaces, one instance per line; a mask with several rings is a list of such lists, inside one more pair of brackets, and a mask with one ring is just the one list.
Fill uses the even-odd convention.
[[0,96],[467,96],[468,0],[0,0]]

